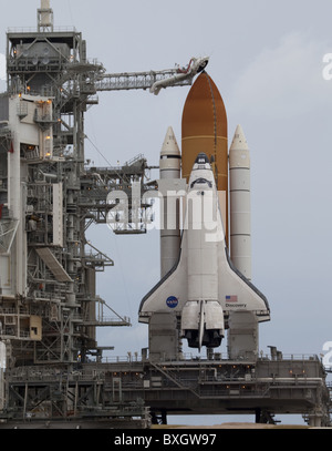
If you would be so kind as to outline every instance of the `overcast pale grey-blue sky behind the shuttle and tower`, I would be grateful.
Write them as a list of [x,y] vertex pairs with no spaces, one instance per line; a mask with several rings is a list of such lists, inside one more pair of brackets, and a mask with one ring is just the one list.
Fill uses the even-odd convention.
[[[39,4],[6,1],[0,53],[8,28],[35,27]],[[210,57],[207,72],[226,104],[229,143],[240,123],[251,152],[252,281],[271,308],[260,349],[321,353],[332,341],[332,80],[322,76],[323,57],[332,53],[332,3],[51,0],[51,6],[55,27],[82,31],[89,58],[107,72],[162,70]],[[158,164],[169,125],[180,145],[188,90],[172,88],[158,96],[101,93],[100,105],[86,114],[86,134],[114,165],[139,153]],[[90,142],[86,157],[106,165]],[[115,260],[98,276],[100,296],[133,322],[131,329],[102,329],[100,345],[114,345],[116,355],[141,353],[147,327],[137,324],[137,309],[159,278],[158,233],[115,237],[98,226],[89,236]]]

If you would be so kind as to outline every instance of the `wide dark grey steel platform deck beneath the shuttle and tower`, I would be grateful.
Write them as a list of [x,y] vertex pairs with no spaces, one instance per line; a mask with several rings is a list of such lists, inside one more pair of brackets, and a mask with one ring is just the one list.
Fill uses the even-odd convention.
[[148,428],[169,414],[236,413],[252,413],[256,422],[299,413],[310,426],[330,424],[317,356],[18,367],[6,372],[6,390],[0,429]]

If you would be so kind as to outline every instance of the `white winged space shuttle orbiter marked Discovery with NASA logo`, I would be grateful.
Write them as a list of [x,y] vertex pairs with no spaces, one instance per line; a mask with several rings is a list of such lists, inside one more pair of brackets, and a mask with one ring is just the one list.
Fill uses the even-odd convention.
[[139,321],[155,312],[175,312],[181,337],[193,348],[218,347],[231,311],[270,319],[266,297],[231,264],[215,175],[199,153],[189,176],[178,260],[142,299]]

